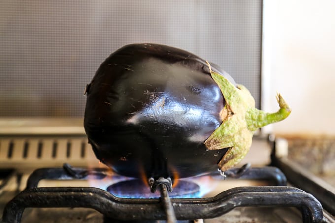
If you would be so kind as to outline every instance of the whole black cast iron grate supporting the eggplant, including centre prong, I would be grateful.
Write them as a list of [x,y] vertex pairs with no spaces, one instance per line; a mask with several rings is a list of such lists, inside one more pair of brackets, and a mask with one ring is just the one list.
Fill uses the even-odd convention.
[[[166,219],[167,222],[215,218],[241,206],[296,207],[302,213],[303,222],[323,221],[323,210],[318,200],[309,193],[287,186],[236,187],[210,198],[172,199],[167,192],[171,190],[170,180],[164,178],[149,182],[152,189],[159,188],[159,199],[120,198],[92,187],[37,187],[41,179],[102,179],[105,177],[103,171],[71,168],[67,164],[63,169],[36,170],[29,177],[27,188],[7,203],[3,213],[4,223],[20,223],[24,209],[29,207],[83,207],[95,209],[109,219]],[[238,172],[238,169],[233,170],[231,175],[238,176]],[[252,178],[254,173],[259,172],[265,172],[267,178],[272,180],[281,179],[277,181],[279,183],[286,183],[285,176],[275,167],[250,168],[243,174],[243,178],[264,179],[264,176],[259,175]]]

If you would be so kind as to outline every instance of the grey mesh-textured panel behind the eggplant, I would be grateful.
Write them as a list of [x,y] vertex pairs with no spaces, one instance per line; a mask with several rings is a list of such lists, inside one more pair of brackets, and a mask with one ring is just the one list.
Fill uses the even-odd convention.
[[0,117],[82,117],[102,61],[153,42],[219,64],[259,105],[261,0],[2,0]]

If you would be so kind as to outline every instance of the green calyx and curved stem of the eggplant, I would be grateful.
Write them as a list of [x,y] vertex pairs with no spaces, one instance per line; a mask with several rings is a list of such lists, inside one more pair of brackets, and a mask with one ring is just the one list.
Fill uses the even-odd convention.
[[214,81],[225,98],[225,107],[221,111],[222,123],[204,142],[208,150],[229,148],[219,161],[221,171],[238,164],[248,153],[253,132],[260,127],[285,119],[291,109],[280,94],[277,101],[280,109],[275,113],[266,113],[255,108],[255,100],[243,85],[236,87],[224,76],[213,72],[207,62]]

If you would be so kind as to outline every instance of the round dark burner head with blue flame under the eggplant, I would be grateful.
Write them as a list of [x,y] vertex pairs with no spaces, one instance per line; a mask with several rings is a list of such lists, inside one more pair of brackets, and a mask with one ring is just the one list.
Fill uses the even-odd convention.
[[[138,179],[112,184],[107,188],[107,191],[122,198],[160,197],[158,190],[155,193],[152,193],[150,187]],[[200,187],[194,182],[179,180],[178,184],[173,188],[173,191],[169,193],[169,196],[172,198],[200,197]]]

